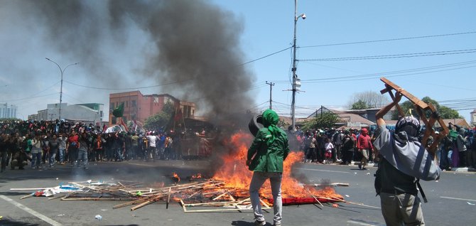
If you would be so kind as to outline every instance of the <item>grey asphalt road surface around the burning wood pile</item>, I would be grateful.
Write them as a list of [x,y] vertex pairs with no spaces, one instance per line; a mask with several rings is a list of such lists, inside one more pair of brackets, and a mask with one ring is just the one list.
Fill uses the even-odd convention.
[[[28,192],[10,188],[54,187],[69,181],[167,181],[171,172],[179,175],[204,173],[210,161],[127,161],[102,162],[86,171],[82,168],[58,166],[53,169],[24,171],[7,170],[0,174],[0,225],[253,225],[251,211],[244,212],[183,212],[178,203],[166,209],[165,203],[147,205],[139,210],[113,210],[124,201],[62,201],[33,197],[20,200]],[[354,203],[339,203],[283,207],[283,225],[384,225],[379,210],[379,197],[374,191],[374,172],[369,167],[360,171],[356,166],[298,164],[293,173],[303,183],[340,182],[349,187],[336,187],[337,193]],[[423,204],[426,225],[474,225],[476,216],[476,173],[443,172],[440,181],[423,181],[428,203]],[[96,220],[101,215],[102,220]],[[272,210],[265,214],[272,225]]]

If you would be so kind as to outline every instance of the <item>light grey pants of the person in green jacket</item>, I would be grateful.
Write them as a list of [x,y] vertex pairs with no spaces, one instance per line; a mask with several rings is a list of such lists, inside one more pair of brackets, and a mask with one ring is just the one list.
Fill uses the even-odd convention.
[[276,225],[281,224],[281,214],[283,210],[283,202],[281,200],[281,179],[283,173],[266,173],[266,172],[254,172],[251,183],[249,184],[249,196],[251,198],[251,207],[254,212],[254,219],[264,221],[263,212],[261,211],[261,203],[259,203],[259,189],[263,185],[264,181],[269,178],[271,183],[271,193],[273,193],[273,208],[274,208],[274,223]]

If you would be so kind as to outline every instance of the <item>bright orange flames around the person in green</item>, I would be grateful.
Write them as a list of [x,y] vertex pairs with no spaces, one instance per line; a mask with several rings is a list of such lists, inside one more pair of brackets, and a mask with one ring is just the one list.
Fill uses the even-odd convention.
[[[247,152],[249,144],[253,140],[253,136],[248,133],[239,132],[234,134],[228,141],[231,151],[225,156],[222,156],[224,161],[222,168],[213,176],[215,179],[225,181],[225,188],[233,188],[236,190],[248,190],[249,183],[253,172],[249,171],[246,166]],[[342,200],[342,196],[335,193],[335,190],[326,187],[322,190],[314,187],[304,187],[299,181],[291,176],[291,168],[294,163],[298,163],[303,159],[303,153],[293,152],[288,154],[286,161],[283,163],[283,180],[281,182],[281,194],[285,198],[309,198],[313,196],[318,198],[331,198],[332,200]],[[272,200],[271,185],[269,181],[264,183],[260,190],[260,195],[263,198]]]

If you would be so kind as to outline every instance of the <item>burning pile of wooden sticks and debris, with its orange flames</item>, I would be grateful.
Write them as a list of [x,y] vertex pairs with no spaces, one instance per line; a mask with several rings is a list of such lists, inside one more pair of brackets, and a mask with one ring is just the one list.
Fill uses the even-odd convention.
[[[45,196],[48,196],[46,194],[59,194],[54,198],[49,198],[50,200],[55,198],[61,198],[61,200],[127,200],[126,203],[114,205],[114,209],[130,207],[131,210],[137,210],[156,202],[165,202],[166,208],[168,208],[168,204],[174,200],[182,205],[184,212],[250,210],[251,201],[248,188],[252,172],[248,171],[244,164],[247,144],[249,144],[246,141],[249,139],[251,136],[244,133],[232,136],[227,146],[231,150],[238,151],[230,151],[229,155],[223,156],[223,165],[212,178],[203,178],[198,173],[190,176],[189,183],[183,183],[180,181],[180,176],[174,172],[171,175],[173,185],[169,186],[166,186],[165,183],[144,185],[121,181],[116,183],[82,181],[70,182],[55,188],[31,188],[29,190],[40,190],[40,195]],[[345,202],[342,196],[335,193],[335,190],[330,186],[318,189],[314,185],[303,185],[291,177],[291,166],[301,161],[302,157],[302,154],[291,153],[284,163],[281,186],[283,205]],[[11,190],[27,189],[13,188]],[[261,189],[260,198],[264,209],[270,208],[273,198],[269,182],[266,182],[264,189]],[[208,209],[210,207],[221,208]],[[194,208],[194,210],[190,210],[190,208]]]

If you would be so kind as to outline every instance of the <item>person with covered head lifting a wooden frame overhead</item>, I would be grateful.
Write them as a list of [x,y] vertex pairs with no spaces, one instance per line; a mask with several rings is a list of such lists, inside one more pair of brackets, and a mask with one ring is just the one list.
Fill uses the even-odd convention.
[[401,117],[396,122],[394,134],[386,129],[383,117],[400,101],[400,92],[397,90],[394,102],[376,114],[378,129],[374,145],[382,158],[374,186],[380,196],[386,225],[424,225],[421,201],[417,195],[417,185],[421,190],[418,181],[437,180],[441,170],[426,147],[418,141],[418,119]]

